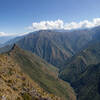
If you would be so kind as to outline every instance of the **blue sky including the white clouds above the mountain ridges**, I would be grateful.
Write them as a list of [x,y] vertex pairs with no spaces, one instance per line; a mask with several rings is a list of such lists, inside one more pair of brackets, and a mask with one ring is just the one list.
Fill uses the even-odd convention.
[[0,0],[0,35],[100,25],[100,0]]

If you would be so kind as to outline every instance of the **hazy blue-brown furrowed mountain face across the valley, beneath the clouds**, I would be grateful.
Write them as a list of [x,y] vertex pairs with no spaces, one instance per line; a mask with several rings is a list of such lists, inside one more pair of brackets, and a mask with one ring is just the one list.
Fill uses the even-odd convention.
[[17,44],[61,68],[69,57],[92,39],[89,32],[88,30],[72,32],[41,30],[25,36]]

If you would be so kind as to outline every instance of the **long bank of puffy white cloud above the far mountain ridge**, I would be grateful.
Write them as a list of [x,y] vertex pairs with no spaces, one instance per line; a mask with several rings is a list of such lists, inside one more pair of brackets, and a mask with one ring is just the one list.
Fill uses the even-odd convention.
[[63,20],[56,21],[41,21],[41,22],[33,22],[31,26],[28,27],[28,30],[36,31],[36,30],[47,30],[47,29],[79,29],[79,28],[92,28],[100,25],[100,18],[94,18],[92,21],[83,20],[80,22],[71,22],[66,23]]

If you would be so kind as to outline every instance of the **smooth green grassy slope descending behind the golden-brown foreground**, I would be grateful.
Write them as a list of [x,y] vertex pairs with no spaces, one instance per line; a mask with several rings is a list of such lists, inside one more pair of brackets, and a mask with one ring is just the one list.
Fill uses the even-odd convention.
[[16,51],[12,54],[14,59],[19,63],[23,71],[45,91],[62,97],[63,100],[71,100],[71,97],[75,96],[70,85],[58,79],[57,68],[32,53],[19,49]]

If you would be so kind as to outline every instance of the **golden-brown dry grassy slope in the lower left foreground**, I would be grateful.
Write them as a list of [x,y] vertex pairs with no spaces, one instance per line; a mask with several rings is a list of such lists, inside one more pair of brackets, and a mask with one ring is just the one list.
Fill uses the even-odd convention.
[[60,100],[23,73],[8,54],[0,55],[0,100]]

